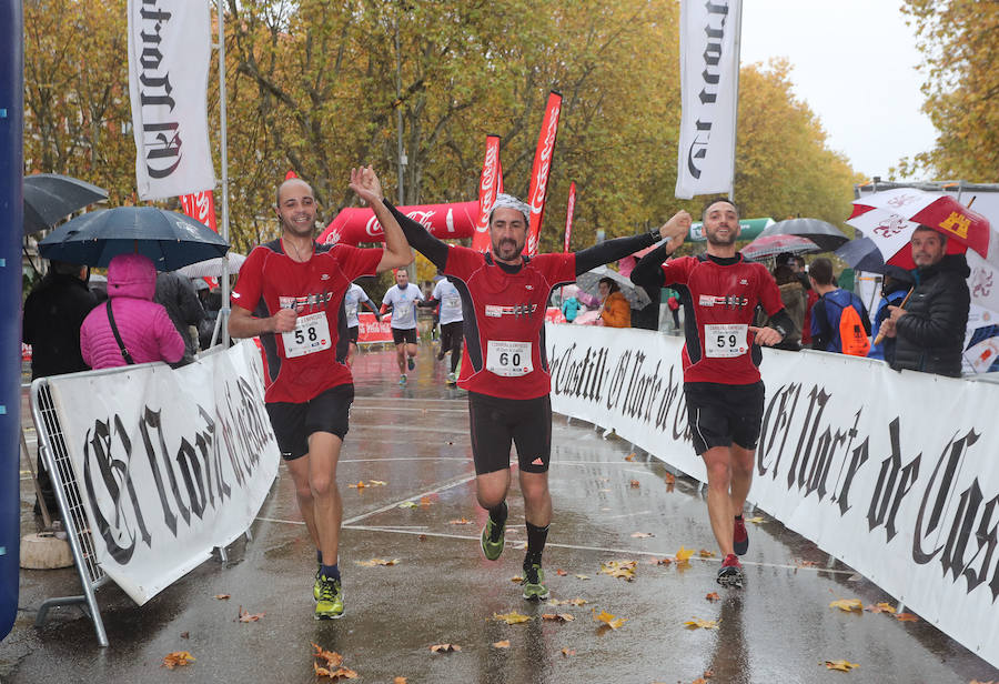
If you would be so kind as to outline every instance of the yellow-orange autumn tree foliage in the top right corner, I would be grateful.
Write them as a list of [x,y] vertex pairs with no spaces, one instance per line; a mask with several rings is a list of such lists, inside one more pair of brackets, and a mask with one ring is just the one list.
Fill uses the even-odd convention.
[[906,0],[925,56],[922,86],[938,131],[931,150],[902,160],[896,173],[996,182],[999,169],[999,2]]

